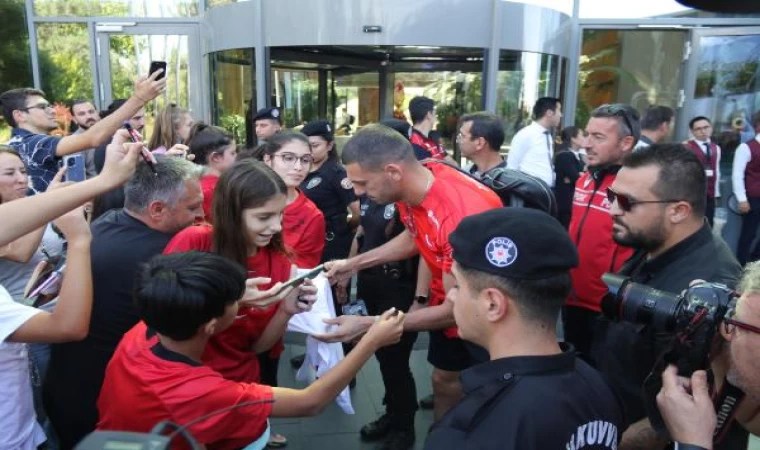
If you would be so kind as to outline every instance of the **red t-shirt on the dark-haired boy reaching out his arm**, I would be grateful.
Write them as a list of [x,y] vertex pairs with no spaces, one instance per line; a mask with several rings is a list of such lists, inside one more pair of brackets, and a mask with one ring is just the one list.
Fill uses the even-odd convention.
[[[223,408],[272,399],[271,387],[226,380],[166,349],[139,322],[124,335],[106,368],[98,429],[147,433],[164,420],[184,425]],[[244,406],[191,425],[189,431],[210,450],[241,448],[264,433],[271,412],[271,403]],[[171,448],[189,447],[178,437]]]

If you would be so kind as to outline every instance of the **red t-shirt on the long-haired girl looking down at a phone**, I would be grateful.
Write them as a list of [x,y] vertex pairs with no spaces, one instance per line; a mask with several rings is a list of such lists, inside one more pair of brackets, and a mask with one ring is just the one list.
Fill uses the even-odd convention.
[[[187,227],[169,241],[164,254],[199,250],[210,252],[213,244],[213,228],[209,224]],[[268,289],[278,281],[290,278],[290,260],[268,247],[259,248],[255,256],[248,258],[249,277],[269,277]],[[253,353],[253,345],[261,337],[278,304],[266,309],[240,308],[233,324],[214,335],[206,346],[203,363],[221,373],[224,378],[246,383],[259,381],[259,362]],[[272,347],[270,356],[278,358],[284,349],[282,340]]]

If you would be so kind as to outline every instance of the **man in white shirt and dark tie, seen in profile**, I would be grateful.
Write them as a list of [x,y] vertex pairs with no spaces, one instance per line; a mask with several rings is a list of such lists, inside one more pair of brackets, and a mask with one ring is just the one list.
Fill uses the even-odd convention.
[[551,129],[562,119],[558,98],[541,97],[533,105],[534,121],[512,138],[507,168],[525,172],[554,187],[554,144]]

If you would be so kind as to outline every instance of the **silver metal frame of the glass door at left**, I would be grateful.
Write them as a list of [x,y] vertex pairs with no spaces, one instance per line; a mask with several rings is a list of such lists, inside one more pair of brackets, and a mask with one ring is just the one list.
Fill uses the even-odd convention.
[[[157,22],[127,22],[127,21],[98,21],[94,26],[94,54],[96,65],[95,96],[100,102],[101,109],[105,109],[113,101],[113,86],[111,84],[111,36],[114,35],[185,35],[188,41],[187,70],[190,76],[188,85],[187,105],[194,112],[197,119],[206,119],[208,105],[202,89],[203,59],[201,54],[200,33],[197,23],[157,23]],[[184,105],[183,105],[184,106]]]

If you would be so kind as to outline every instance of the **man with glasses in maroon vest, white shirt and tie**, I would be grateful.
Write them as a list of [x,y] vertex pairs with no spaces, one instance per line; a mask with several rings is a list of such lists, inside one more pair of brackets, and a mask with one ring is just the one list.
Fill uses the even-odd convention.
[[[699,159],[705,168],[707,177],[707,204],[705,217],[713,225],[715,217],[715,199],[720,198],[720,147],[710,141],[712,123],[704,116],[697,116],[689,121],[689,129],[693,139],[686,142],[686,148]],[[643,134],[643,132],[642,132]]]

